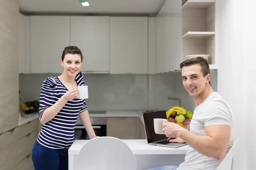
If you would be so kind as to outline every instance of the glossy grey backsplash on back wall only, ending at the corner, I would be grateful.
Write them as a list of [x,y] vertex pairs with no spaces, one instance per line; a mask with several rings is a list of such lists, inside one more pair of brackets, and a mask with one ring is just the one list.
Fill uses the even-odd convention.
[[[40,88],[49,76],[20,74],[21,102],[40,98]],[[88,110],[145,110],[148,108],[148,76],[132,74],[84,74],[88,85]]]

